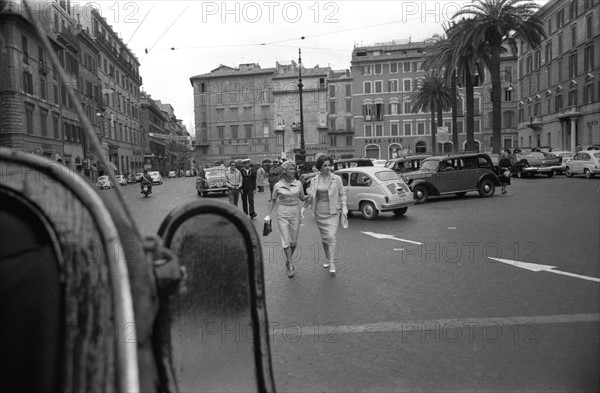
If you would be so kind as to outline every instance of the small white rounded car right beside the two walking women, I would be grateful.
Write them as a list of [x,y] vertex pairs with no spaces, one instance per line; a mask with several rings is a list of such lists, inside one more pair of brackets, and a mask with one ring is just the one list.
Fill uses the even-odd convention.
[[367,220],[374,220],[379,212],[391,211],[402,216],[415,204],[413,194],[404,180],[391,169],[382,167],[354,167],[335,172],[341,176],[348,196],[349,211],[360,211]]

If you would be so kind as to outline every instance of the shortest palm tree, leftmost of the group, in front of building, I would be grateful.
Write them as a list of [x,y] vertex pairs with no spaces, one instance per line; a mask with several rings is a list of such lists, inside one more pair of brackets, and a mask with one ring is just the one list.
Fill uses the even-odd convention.
[[450,89],[444,84],[444,80],[439,72],[427,72],[422,79],[419,89],[412,95],[412,111],[419,110],[431,112],[431,146],[433,153],[437,153],[435,122],[436,111],[438,113],[438,122],[442,122],[442,111],[450,108]]

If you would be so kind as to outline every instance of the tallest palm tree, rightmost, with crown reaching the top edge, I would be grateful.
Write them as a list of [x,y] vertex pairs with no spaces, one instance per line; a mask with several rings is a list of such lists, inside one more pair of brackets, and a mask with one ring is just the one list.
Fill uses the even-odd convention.
[[481,59],[488,67],[492,80],[492,151],[500,153],[501,148],[501,98],[500,54],[502,44],[512,40],[516,33],[532,48],[540,46],[546,37],[541,19],[536,15],[539,6],[526,0],[477,0],[476,3],[458,11],[453,18],[468,16],[470,28],[463,31],[462,39],[470,42],[473,48],[487,45],[488,51]]

